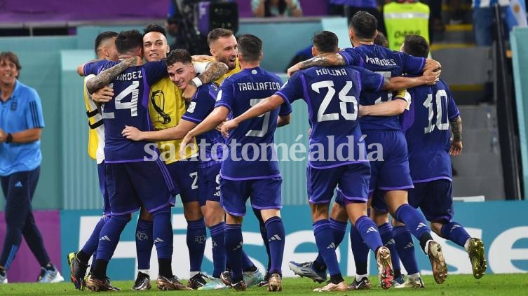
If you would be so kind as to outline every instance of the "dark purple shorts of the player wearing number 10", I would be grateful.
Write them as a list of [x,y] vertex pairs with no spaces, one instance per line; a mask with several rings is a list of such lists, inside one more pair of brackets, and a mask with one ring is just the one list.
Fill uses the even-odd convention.
[[409,190],[409,204],[420,207],[428,221],[451,222],[454,215],[452,182],[440,179],[414,183],[414,190]]

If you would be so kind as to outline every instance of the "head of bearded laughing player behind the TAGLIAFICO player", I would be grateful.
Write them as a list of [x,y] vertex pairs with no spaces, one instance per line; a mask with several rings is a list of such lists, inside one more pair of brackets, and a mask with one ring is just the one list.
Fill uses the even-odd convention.
[[211,55],[218,62],[226,64],[229,70],[235,69],[238,45],[233,31],[222,28],[213,29],[207,36],[207,43]]

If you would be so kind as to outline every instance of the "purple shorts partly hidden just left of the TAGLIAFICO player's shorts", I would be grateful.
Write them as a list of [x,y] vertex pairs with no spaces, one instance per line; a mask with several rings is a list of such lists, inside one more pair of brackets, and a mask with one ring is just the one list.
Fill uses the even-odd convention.
[[200,197],[200,206],[205,206],[205,202],[208,200],[220,202],[220,167],[222,164],[217,163],[199,169],[198,196]]

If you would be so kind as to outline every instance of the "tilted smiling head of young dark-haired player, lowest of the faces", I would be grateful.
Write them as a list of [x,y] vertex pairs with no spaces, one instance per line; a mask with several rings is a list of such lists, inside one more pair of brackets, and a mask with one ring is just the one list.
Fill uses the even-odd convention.
[[167,59],[167,72],[172,83],[180,90],[184,90],[192,78],[196,77],[196,71],[191,61],[191,54],[184,49],[175,49],[169,52]]

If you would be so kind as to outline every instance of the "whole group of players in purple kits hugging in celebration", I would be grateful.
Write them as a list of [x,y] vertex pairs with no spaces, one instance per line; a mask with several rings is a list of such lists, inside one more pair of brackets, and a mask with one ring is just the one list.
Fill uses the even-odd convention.
[[[376,28],[374,16],[356,13],[349,25],[353,48],[344,50],[337,48],[335,34],[318,32],[314,57],[288,69],[284,85],[260,67],[262,41],[251,34],[237,39],[232,31],[213,29],[208,34],[212,57],[169,52],[165,31],[157,25],[144,34],[97,36],[100,60],[78,71],[86,76],[91,154],[97,159],[104,215],[83,248],[68,255],[74,286],[119,290],[107,278],[107,265],[131,213],[140,210],[133,290],[151,288],[153,246],[159,290],[243,291],[252,285],[282,290],[285,230],[273,134],[290,122],[297,99],[306,101],[309,111],[310,147],[320,148],[306,168],[319,255],[313,262],[290,262],[295,274],[319,283],[330,274],[314,291],[371,288],[367,255],[372,250],[381,288],[424,288],[412,234],[431,261],[435,281],[443,283],[447,265],[432,230],[468,251],[473,275],[480,279],[487,268],[482,240],[452,220],[449,154],[461,153],[462,127],[452,94],[439,80],[440,64],[426,58],[424,38],[407,36],[396,52],[383,46]],[[359,149],[337,151],[345,144]],[[367,157],[373,154],[376,159]],[[177,194],[187,220],[187,285],[171,269],[170,207]],[[268,253],[265,273],[243,250],[248,198]],[[356,262],[350,285],[335,251],[348,220]],[[212,276],[201,271],[206,227]]]

